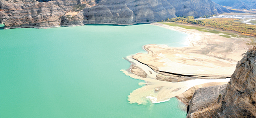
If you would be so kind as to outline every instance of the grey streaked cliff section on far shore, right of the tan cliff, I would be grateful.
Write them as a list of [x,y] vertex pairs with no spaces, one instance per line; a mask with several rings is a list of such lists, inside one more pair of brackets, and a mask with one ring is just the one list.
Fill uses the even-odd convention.
[[175,17],[174,7],[166,0],[102,0],[97,6],[85,7],[77,17],[65,17],[63,25],[69,26],[80,18],[82,24],[129,25],[161,21]]

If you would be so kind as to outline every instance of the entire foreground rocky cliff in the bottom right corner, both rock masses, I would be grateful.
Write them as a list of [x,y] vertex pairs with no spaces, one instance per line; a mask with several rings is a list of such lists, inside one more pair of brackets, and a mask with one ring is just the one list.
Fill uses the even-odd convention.
[[189,103],[187,118],[256,118],[255,55],[256,47],[237,63],[224,90],[223,86],[198,89]]

